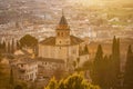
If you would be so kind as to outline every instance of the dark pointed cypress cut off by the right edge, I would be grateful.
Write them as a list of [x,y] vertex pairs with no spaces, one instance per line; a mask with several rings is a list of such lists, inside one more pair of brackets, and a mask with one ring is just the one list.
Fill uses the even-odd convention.
[[124,89],[133,89],[133,51],[129,46],[124,73]]

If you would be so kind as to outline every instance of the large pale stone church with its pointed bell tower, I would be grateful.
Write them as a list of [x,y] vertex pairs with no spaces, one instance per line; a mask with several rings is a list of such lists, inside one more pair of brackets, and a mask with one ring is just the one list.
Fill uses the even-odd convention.
[[64,14],[62,14],[55,29],[55,37],[47,38],[39,43],[39,57],[53,60],[61,59],[68,63],[78,58],[84,58],[83,56],[80,57],[80,51],[84,51],[84,46],[82,39],[71,36],[70,27]]

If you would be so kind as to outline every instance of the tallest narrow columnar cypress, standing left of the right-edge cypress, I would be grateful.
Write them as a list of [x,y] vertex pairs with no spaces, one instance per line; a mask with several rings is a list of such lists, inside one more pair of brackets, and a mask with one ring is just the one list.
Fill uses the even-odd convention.
[[112,86],[113,88],[119,88],[119,76],[120,76],[120,39],[113,38],[112,44]]

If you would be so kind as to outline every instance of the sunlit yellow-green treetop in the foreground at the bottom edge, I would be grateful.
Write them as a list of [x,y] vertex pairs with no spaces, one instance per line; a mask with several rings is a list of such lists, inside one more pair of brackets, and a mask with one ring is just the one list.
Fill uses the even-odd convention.
[[55,80],[50,81],[45,89],[100,89],[100,88],[88,82],[82,75],[74,73],[65,79],[60,80],[58,83]]

